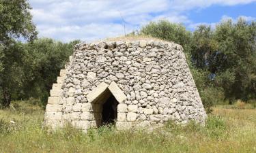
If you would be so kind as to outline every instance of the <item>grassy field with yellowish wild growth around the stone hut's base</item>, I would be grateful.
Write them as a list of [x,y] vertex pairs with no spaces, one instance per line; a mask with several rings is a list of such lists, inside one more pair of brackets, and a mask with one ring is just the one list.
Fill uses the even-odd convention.
[[83,134],[70,127],[48,133],[44,111],[18,103],[0,110],[0,152],[256,152],[256,109],[215,107],[205,127],[169,122],[152,132],[102,127]]

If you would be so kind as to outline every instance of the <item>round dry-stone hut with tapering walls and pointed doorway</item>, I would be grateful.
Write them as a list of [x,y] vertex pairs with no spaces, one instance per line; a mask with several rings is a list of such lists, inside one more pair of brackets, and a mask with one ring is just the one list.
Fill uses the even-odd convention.
[[205,118],[182,46],[144,39],[76,45],[53,84],[44,124],[119,130]]

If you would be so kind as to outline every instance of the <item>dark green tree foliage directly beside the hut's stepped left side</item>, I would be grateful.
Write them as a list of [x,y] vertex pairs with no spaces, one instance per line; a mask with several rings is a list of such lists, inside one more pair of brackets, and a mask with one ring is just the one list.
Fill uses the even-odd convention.
[[56,82],[59,70],[63,69],[68,57],[72,55],[74,44],[61,43],[53,39],[36,39],[33,44],[25,44],[26,56],[23,67],[26,71],[24,84],[19,97],[28,99],[35,97],[42,100],[44,105],[48,98],[48,92],[52,84]]

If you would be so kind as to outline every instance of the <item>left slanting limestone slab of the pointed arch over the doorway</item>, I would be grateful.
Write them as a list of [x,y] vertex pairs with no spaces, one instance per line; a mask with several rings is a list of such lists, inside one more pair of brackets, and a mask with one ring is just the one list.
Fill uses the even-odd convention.
[[106,88],[108,88],[108,86],[108,84],[102,82],[100,83],[100,85],[94,88],[94,90],[89,92],[89,94],[87,95],[87,100],[89,101],[89,103],[92,103],[94,100],[100,97],[100,95],[106,90]]

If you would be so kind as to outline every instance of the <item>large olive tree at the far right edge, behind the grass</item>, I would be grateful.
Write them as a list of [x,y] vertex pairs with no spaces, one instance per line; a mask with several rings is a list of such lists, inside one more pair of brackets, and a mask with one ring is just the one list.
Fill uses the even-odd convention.
[[256,97],[256,24],[242,18],[221,22],[216,26],[214,39],[219,52],[224,54],[219,69],[221,86],[228,99],[248,100]]

